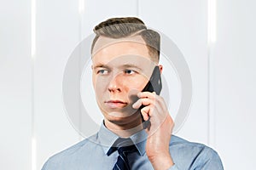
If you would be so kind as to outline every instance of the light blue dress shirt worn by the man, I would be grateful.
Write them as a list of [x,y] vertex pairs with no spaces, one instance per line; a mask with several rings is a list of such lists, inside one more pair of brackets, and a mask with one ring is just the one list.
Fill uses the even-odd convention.
[[[108,156],[107,153],[118,138],[119,136],[109,131],[102,123],[99,132],[95,135],[51,156],[42,170],[111,170],[119,154],[114,151]],[[154,169],[145,150],[147,139],[145,130],[133,134],[130,138],[138,150],[128,155],[131,169]],[[175,163],[169,170],[223,169],[218,153],[204,144],[191,143],[172,135],[169,147],[172,161]]]

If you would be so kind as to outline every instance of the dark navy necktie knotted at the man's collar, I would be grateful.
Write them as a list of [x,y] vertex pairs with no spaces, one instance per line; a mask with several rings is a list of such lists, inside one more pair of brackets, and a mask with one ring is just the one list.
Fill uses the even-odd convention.
[[110,150],[108,150],[108,156],[113,151],[118,150],[119,156],[116,163],[113,166],[113,170],[130,170],[129,160],[127,156],[131,152],[137,151],[137,147],[133,144],[131,139],[117,139]]

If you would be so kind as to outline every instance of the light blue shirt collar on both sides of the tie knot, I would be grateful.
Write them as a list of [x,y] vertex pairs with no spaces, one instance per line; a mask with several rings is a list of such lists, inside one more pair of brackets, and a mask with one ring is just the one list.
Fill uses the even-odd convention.
[[[108,150],[113,146],[114,142],[119,138],[119,136],[110,130],[108,130],[107,127],[105,127],[104,122],[102,122],[101,128],[98,132],[99,141],[102,145],[102,149],[104,150],[104,153],[107,155]],[[137,133],[134,133],[131,135],[131,140],[137,147],[137,150],[139,151],[139,154],[143,156],[146,152],[146,142],[147,142],[148,134],[145,132],[145,130],[141,130]]]

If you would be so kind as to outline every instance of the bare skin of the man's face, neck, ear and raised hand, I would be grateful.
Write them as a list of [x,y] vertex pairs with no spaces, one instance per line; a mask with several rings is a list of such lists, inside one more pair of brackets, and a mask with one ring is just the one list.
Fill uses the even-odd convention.
[[[154,65],[142,37],[99,37],[92,54],[92,82],[105,125],[113,133],[129,137],[143,129],[141,114],[145,121],[150,117],[146,153],[154,169],[167,169],[173,165],[169,142],[174,122],[162,97],[141,92]],[[146,106],[139,111],[141,105]]]

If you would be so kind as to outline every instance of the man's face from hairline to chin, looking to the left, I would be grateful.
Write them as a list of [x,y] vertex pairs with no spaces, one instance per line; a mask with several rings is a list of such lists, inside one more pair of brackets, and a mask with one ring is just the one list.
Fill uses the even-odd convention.
[[131,105],[148,83],[155,65],[143,38],[121,41],[100,37],[92,63],[96,101],[105,119],[118,124],[141,120],[139,111]]

